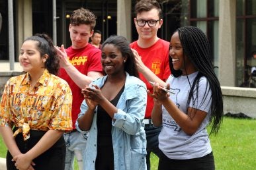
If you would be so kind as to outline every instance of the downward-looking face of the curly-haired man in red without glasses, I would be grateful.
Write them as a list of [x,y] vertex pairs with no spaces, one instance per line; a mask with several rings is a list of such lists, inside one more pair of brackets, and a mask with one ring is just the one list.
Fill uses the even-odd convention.
[[74,49],[80,49],[87,45],[89,38],[93,35],[91,27],[86,24],[73,26],[69,24],[70,40]]

